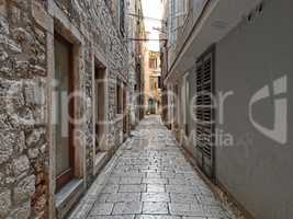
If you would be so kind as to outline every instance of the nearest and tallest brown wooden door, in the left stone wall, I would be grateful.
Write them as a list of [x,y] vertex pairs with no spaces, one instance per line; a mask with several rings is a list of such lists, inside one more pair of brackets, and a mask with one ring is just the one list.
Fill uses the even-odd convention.
[[75,175],[74,147],[74,100],[68,96],[74,92],[72,48],[63,36],[55,34],[55,74],[57,82],[54,101],[54,141],[56,146],[56,192],[69,183]]

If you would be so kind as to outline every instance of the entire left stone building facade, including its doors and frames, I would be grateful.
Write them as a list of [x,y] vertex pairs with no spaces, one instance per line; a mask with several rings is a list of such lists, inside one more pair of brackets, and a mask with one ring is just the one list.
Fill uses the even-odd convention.
[[[122,12],[129,4],[117,2],[0,0],[0,218],[65,217],[127,136],[134,82]],[[70,54],[68,69],[58,59],[67,57],[63,53]],[[75,93],[70,102],[55,96],[64,89],[56,72],[64,69],[68,91]],[[100,71],[102,94],[95,88]],[[58,104],[78,120],[68,123],[65,152],[56,139]],[[98,138],[100,115],[104,123]],[[69,159],[70,175],[58,182],[63,159]]]

